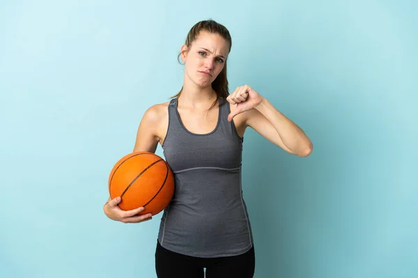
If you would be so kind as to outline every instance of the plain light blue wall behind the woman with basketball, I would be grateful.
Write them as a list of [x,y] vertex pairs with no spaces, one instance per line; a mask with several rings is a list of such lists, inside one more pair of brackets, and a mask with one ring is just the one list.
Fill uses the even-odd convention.
[[[212,18],[229,82],[302,127],[307,158],[248,130],[255,277],[418,277],[417,1],[1,1],[0,277],[155,277],[162,214],[106,218],[111,167]],[[162,155],[161,147],[157,154]]]

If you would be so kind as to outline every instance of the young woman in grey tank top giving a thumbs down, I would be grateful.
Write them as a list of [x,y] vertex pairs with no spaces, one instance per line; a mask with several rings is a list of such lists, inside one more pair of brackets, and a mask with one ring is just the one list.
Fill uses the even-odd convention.
[[[160,222],[157,277],[253,277],[251,224],[241,190],[245,129],[297,156],[312,143],[296,124],[249,85],[229,94],[226,61],[229,31],[215,21],[195,24],[179,58],[185,64],[183,88],[171,101],[148,108],[139,124],[134,151],[155,152],[160,143],[176,178],[176,192]],[[112,220],[138,223],[152,215],[144,208],[121,211],[121,198],[109,199]]]

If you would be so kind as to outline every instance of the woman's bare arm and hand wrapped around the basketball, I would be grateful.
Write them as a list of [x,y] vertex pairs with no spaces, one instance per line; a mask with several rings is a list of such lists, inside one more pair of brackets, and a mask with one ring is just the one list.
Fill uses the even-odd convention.
[[[157,136],[158,124],[161,123],[161,115],[159,106],[151,106],[144,113],[141,122],[139,123],[137,138],[134,144],[134,152],[155,152],[160,138]],[[107,200],[103,206],[104,214],[111,220],[120,221],[123,223],[139,223],[152,219],[150,213],[146,215],[138,215],[144,211],[144,207],[134,208],[131,211],[123,211],[118,204],[121,202],[121,197]]]

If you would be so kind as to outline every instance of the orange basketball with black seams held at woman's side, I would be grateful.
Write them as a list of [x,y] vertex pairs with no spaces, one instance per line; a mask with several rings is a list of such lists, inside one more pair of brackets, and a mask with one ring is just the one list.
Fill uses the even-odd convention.
[[139,214],[160,213],[174,194],[174,176],[169,165],[157,154],[132,152],[114,165],[109,175],[111,199],[121,196],[124,211],[144,206]]

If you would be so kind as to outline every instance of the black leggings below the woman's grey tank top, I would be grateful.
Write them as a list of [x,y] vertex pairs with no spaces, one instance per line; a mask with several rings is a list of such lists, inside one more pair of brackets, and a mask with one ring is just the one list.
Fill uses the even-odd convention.
[[165,249],[157,241],[155,270],[158,278],[252,278],[255,270],[254,246],[238,256],[196,258]]

